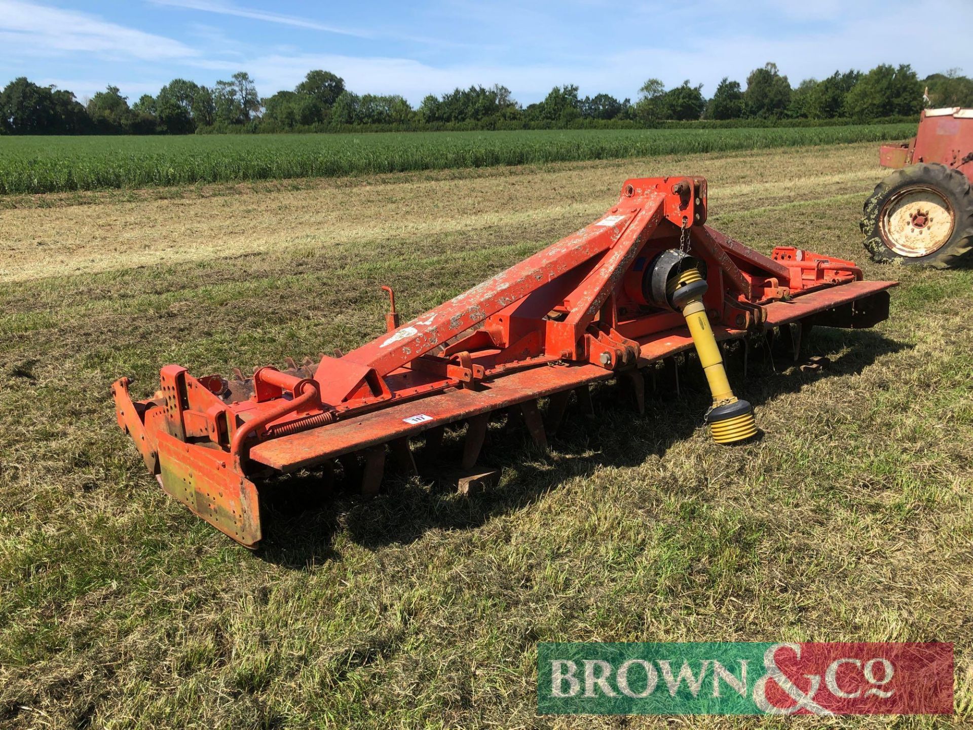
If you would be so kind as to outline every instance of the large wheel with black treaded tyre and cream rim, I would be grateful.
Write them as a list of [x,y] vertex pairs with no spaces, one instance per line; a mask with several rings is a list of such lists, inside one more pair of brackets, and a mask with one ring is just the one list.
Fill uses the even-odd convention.
[[874,261],[934,269],[973,263],[973,194],[959,170],[932,163],[896,170],[875,186],[863,213]]

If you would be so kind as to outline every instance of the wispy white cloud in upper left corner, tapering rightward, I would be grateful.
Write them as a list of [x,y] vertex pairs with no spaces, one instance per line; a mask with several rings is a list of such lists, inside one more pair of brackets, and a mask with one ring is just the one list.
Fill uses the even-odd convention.
[[182,60],[198,51],[178,41],[108,22],[87,13],[0,0],[5,55],[88,53],[112,58]]

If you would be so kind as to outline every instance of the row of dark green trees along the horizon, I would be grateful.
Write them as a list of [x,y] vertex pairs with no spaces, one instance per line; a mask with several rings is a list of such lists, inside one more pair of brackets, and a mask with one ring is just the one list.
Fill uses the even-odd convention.
[[910,117],[923,106],[973,106],[973,80],[957,70],[919,79],[908,65],[882,64],[868,72],[835,71],[791,87],[774,63],[754,69],[745,87],[728,77],[713,95],[685,81],[672,89],[649,79],[634,102],[611,94],[581,97],[578,87],[555,87],[523,106],[495,85],[429,94],[413,107],[398,94],[357,94],[323,70],[307,73],[293,91],[261,97],[249,74],[213,87],[185,79],[128,104],[109,86],[81,103],[71,91],[41,87],[24,77],[0,91],[0,133],[189,134],[231,131],[335,131],[345,128],[574,128],[653,127],[693,120],[775,123],[786,120],[869,122]]

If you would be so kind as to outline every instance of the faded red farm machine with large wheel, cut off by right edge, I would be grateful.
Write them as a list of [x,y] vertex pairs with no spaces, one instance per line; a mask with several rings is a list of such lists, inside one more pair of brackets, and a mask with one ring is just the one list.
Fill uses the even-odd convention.
[[875,261],[936,269],[973,264],[973,109],[926,109],[919,133],[884,145],[898,167],[865,201],[861,232]]

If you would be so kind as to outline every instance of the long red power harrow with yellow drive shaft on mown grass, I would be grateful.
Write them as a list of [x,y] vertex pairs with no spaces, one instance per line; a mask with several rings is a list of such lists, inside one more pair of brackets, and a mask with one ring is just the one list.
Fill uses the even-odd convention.
[[[237,542],[261,539],[257,487],[274,472],[335,462],[376,493],[386,452],[414,470],[410,439],[435,446],[466,423],[462,467],[475,466],[491,414],[519,409],[546,448],[572,391],[631,380],[695,347],[713,393],[707,421],[720,443],[756,433],[727,383],[716,341],[781,325],[870,327],[888,315],[889,287],[853,263],[778,246],[768,258],[705,225],[699,177],[632,179],[599,220],[434,310],[316,365],[194,378],[162,368],[155,397],[113,385],[119,425],[162,489]],[[391,296],[391,290],[388,290]]]

